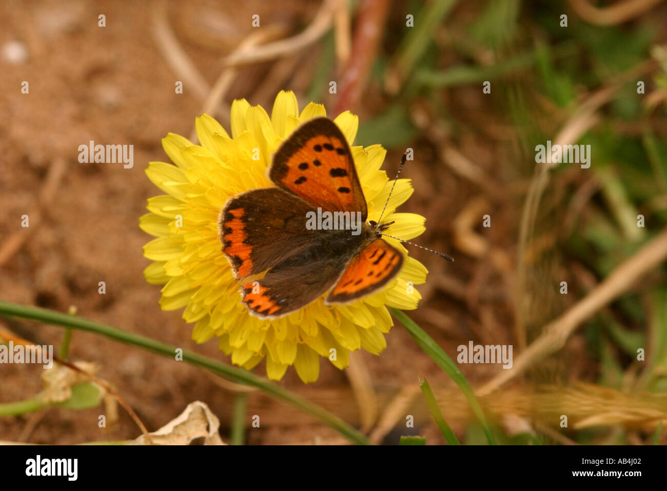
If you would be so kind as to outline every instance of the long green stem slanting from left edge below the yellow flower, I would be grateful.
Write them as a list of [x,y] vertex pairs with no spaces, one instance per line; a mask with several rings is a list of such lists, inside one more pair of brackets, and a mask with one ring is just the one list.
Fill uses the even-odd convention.
[[[127,345],[137,346],[148,351],[153,351],[153,353],[158,353],[159,355],[175,359],[175,353],[177,349],[175,346],[160,343],[159,341],[155,341],[149,337],[129,333],[127,331],[123,331],[122,329],[118,329],[117,327],[111,327],[110,325],[89,321],[88,319],[83,319],[82,317],[74,317],[72,315],[67,315],[48,309],[29,307],[27,305],[17,305],[15,303],[3,301],[0,301],[0,317],[21,317],[23,319],[33,319],[35,321],[41,321],[51,325],[61,325],[65,327],[71,327],[72,329],[79,329],[81,331],[89,331],[92,333],[101,334],[108,337],[109,339],[113,339],[114,341],[119,341]],[[343,436],[346,436],[346,438],[352,442],[363,445],[370,444],[370,441],[368,438],[366,438],[366,436],[352,428],[352,426],[338,418],[338,416],[335,414],[331,414],[327,410],[324,410],[322,407],[319,407],[319,405],[307,401],[306,399],[303,399],[303,397],[300,397],[295,393],[291,393],[279,385],[271,383],[262,377],[258,377],[249,371],[226,365],[221,361],[217,361],[203,355],[198,355],[192,351],[183,350],[183,361],[208,369],[220,377],[229,378],[238,383],[244,383],[245,385],[257,387],[274,399],[298,407],[303,412],[310,414],[321,422],[331,426],[331,428],[338,431]]]

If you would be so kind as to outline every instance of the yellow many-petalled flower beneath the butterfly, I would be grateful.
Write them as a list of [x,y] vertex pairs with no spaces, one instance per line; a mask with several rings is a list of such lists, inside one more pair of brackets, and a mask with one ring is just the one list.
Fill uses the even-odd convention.
[[[294,365],[304,382],[317,380],[319,357],[343,369],[350,351],[379,354],[386,347],[384,333],[392,327],[386,306],[415,309],[422,298],[413,285],[426,281],[426,268],[407,256],[398,240],[386,238],[406,255],[400,274],[387,287],[348,305],[324,305],[323,298],[279,319],[258,319],[241,303],[239,283],[221,251],[218,216],[227,199],[240,192],[273,186],[265,171],[280,142],[301,122],[326,116],[324,106],[311,102],[299,114],[293,92],[280,92],[271,117],[245,100],[231,105],[231,137],[210,116],[197,118],[199,145],[167,134],[162,145],[173,163],[150,162],[148,178],[166,194],[149,198],[150,211],[139,220],[142,230],[155,236],[143,248],[154,261],[144,275],[149,283],[165,285],[161,308],[185,307],[183,319],[195,323],[197,343],[219,337],[219,347],[231,361],[252,369],[266,358],[266,373],[279,380]],[[378,220],[392,182],[380,170],[386,150],[380,145],[352,146],[359,120],[349,111],[335,120],[352,147],[352,154],[368,202],[368,220]],[[257,152],[255,149],[259,149]],[[253,160],[253,157],[259,160]],[[413,189],[400,179],[383,221],[394,224],[386,233],[404,240],[424,232],[424,217],[396,213]],[[335,351],[334,351],[335,350]]]

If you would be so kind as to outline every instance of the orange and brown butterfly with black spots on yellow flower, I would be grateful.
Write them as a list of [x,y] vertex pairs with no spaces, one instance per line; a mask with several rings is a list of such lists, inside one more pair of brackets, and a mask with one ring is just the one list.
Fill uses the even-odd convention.
[[[219,218],[222,251],[234,277],[247,281],[239,291],[252,315],[283,317],[325,294],[325,305],[351,303],[398,275],[403,254],[382,238],[390,223],[366,221],[352,151],[333,121],[299,126],[273,154],[267,176],[276,187],[229,198]],[[308,226],[317,212],[356,214],[360,230]]]

